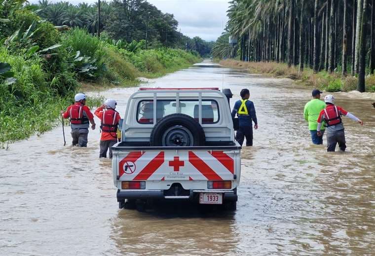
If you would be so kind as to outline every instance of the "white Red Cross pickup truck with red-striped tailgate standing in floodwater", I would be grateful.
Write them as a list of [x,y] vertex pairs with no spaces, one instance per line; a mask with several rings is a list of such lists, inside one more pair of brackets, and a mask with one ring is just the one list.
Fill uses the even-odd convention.
[[112,147],[119,208],[183,199],[236,209],[241,146],[224,91],[141,88],[130,96]]

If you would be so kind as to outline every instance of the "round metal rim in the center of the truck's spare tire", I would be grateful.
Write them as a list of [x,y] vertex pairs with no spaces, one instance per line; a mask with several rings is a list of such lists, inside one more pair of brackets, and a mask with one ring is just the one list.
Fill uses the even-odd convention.
[[162,145],[166,147],[186,147],[192,146],[194,142],[193,134],[188,128],[183,126],[172,126],[168,128],[162,138]]

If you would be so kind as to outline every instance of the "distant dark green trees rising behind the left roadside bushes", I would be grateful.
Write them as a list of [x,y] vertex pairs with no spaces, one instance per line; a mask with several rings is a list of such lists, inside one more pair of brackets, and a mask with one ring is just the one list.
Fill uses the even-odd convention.
[[178,31],[178,21],[173,14],[161,12],[146,0],[100,1],[100,16],[98,7],[98,2],[74,5],[48,0],[28,5],[55,26],[85,28],[91,34],[98,33],[99,29],[102,36],[128,43],[146,40],[147,48],[180,48],[197,51],[202,56],[211,51],[212,43],[184,35]]

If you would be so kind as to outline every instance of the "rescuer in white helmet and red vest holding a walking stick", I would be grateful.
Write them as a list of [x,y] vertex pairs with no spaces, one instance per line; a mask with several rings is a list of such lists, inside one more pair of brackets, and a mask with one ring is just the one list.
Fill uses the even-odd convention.
[[85,106],[86,96],[84,94],[76,94],[75,103],[70,105],[67,111],[61,111],[61,116],[65,119],[69,118],[71,122],[71,134],[73,138],[73,146],[87,147],[88,128],[95,129],[94,116],[90,109]]

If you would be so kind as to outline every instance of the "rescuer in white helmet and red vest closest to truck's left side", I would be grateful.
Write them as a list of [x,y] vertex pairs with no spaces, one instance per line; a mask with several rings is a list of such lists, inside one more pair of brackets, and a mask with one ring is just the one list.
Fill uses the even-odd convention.
[[94,114],[100,119],[100,128],[102,129],[99,158],[107,158],[108,150],[110,151],[109,157],[112,158],[111,147],[117,143],[117,129],[121,117],[115,110],[116,105],[117,102],[114,99],[109,98],[94,112]]

